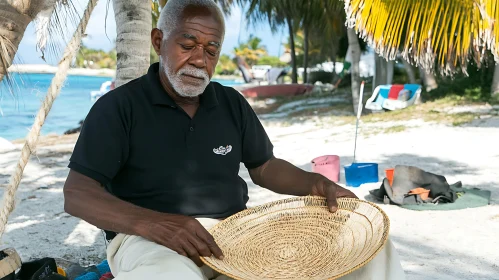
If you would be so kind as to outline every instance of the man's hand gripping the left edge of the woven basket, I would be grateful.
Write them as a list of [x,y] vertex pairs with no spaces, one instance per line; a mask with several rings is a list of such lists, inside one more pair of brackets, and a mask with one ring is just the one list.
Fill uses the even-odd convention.
[[223,259],[222,250],[198,220],[182,215],[159,215],[137,229],[139,235],[190,258],[202,266],[200,256]]

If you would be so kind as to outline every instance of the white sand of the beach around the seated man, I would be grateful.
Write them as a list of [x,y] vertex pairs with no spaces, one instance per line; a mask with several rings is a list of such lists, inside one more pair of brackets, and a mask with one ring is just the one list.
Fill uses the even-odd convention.
[[[363,125],[357,160],[379,163],[380,179],[385,168],[406,164],[444,175],[450,183],[460,180],[465,187],[492,191],[491,205],[475,209],[417,212],[380,205],[391,219],[391,237],[407,279],[498,279],[499,118],[463,127],[422,121],[406,124],[410,124],[406,131],[377,135],[369,134],[375,126]],[[390,125],[398,124],[382,124]],[[340,155],[342,164],[352,161],[352,125],[335,127],[312,118],[285,127],[268,120],[265,126],[276,156],[301,168],[310,170],[310,160],[323,154]],[[99,255],[103,257],[101,232],[63,210],[62,186],[75,137],[49,140],[62,144],[41,146],[38,158],[31,159],[3,246],[15,247],[25,260],[53,256],[82,264],[95,262]],[[7,183],[18,156],[19,150],[0,153],[0,185]],[[241,175],[250,182],[244,168]],[[342,183],[343,175],[342,171]],[[283,197],[249,185],[250,206]],[[364,198],[377,187],[368,184],[352,190]]]

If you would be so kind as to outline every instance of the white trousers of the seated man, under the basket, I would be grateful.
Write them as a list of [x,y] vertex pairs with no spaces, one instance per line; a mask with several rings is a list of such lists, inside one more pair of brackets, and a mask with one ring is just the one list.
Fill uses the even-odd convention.
[[[219,221],[199,218],[210,229]],[[207,266],[198,267],[189,258],[139,236],[118,234],[107,248],[107,259],[116,280],[182,279],[230,280]],[[387,241],[374,259],[341,280],[404,280],[405,274],[397,251]]]

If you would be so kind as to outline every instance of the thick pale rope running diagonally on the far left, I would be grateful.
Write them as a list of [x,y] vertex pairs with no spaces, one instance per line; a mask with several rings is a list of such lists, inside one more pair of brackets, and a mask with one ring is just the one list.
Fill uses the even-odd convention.
[[31,130],[26,137],[26,142],[24,143],[24,146],[21,150],[21,157],[17,162],[17,166],[10,176],[9,185],[7,186],[3,194],[1,204],[2,209],[0,211],[0,238],[5,231],[9,215],[14,210],[15,195],[17,188],[19,187],[19,183],[21,182],[24,168],[26,167],[31,154],[35,151],[36,143],[38,141],[43,123],[45,122],[45,118],[50,112],[54,100],[61,92],[62,85],[67,77],[69,66],[80,47],[81,38],[83,36],[83,33],[85,32],[85,28],[87,27],[88,20],[90,19],[90,14],[97,5],[97,1],[98,0],[88,1],[87,8],[85,9],[80,24],[76,28],[73,34],[73,38],[71,38],[71,41],[66,46],[64,55],[59,61],[59,68],[57,69],[57,72],[52,79],[52,83],[50,84],[50,87],[47,91],[45,100],[43,101],[40,110],[38,110],[38,114],[36,115],[33,126],[31,127]]

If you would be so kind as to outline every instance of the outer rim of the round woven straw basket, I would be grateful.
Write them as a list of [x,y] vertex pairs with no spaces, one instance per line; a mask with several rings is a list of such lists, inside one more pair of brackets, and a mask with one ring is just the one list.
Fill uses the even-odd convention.
[[[221,222],[217,223],[215,226],[213,226],[210,230],[208,230],[208,232],[210,234],[213,234],[213,232],[215,230],[217,230],[219,227],[223,226],[224,222],[228,222],[228,221],[231,221],[231,220],[237,220],[239,219],[240,217],[244,217],[244,216],[247,216],[248,214],[251,214],[251,213],[256,213],[257,210],[261,209],[261,208],[267,208],[267,207],[271,207],[271,206],[274,206],[274,205],[279,205],[279,204],[286,204],[286,203],[290,203],[290,202],[296,202],[296,201],[304,201],[304,200],[316,200],[316,201],[321,201],[323,203],[324,206],[306,206],[306,207],[327,207],[327,204],[326,204],[326,198],[324,197],[321,197],[321,196],[299,196],[299,197],[291,197],[291,198],[285,198],[285,199],[280,199],[280,200],[276,200],[276,201],[272,201],[272,202],[268,202],[268,203],[264,203],[264,204],[261,204],[261,205],[258,205],[258,206],[255,206],[255,207],[251,207],[251,208],[248,208],[248,209],[245,209],[245,210],[242,210],[232,216],[229,216],[227,217],[226,219],[222,220]],[[366,201],[366,200],[361,200],[361,199],[358,199],[358,198],[338,198],[338,201],[345,201],[345,202],[348,202],[348,201],[354,201],[354,202],[357,202],[357,203],[364,203],[364,204],[368,204],[372,207],[374,207],[376,210],[378,210],[381,215],[383,216],[383,223],[385,224],[385,227],[386,227],[386,230],[384,231],[384,234],[382,236],[382,242],[381,242],[381,245],[372,253],[371,256],[369,256],[369,258],[366,258],[364,261],[362,261],[360,264],[350,268],[348,271],[345,271],[341,274],[338,274],[336,275],[334,278],[328,278],[327,280],[334,280],[334,279],[338,279],[340,277],[343,277],[347,274],[350,274],[352,273],[353,271],[363,267],[365,264],[367,264],[368,262],[370,262],[372,259],[374,259],[374,257],[376,257],[378,255],[378,253],[385,247],[386,245],[386,242],[388,240],[388,234],[390,232],[390,219],[388,218],[388,215],[383,211],[383,209],[381,209],[381,207],[379,207],[378,205],[376,205],[375,203],[372,203],[370,201]],[[338,204],[339,206],[339,204]],[[226,271],[223,271],[221,269],[219,269],[218,267],[214,266],[213,264],[211,264],[207,259],[209,259],[210,257],[201,257],[201,261],[207,265],[208,267],[210,267],[211,269],[213,269],[214,271],[222,274],[222,275],[226,275],[234,280],[244,280],[243,278],[240,278],[240,277],[237,277],[231,273],[228,273]]]

